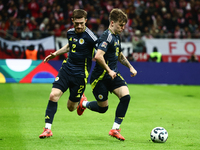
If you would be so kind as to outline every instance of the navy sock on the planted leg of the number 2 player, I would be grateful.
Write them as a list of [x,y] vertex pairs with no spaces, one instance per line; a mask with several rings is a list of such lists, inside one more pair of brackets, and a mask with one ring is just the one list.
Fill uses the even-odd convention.
[[52,102],[49,100],[45,114],[45,123],[52,124],[56,111],[57,111],[57,102]]

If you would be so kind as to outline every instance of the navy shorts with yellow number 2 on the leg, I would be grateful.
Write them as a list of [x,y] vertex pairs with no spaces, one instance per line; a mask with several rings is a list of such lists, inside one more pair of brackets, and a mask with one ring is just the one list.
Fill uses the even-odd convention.
[[64,70],[60,69],[53,82],[53,88],[60,89],[63,93],[69,88],[69,99],[73,102],[79,102],[83,92],[85,91],[85,78],[78,78],[68,75]]

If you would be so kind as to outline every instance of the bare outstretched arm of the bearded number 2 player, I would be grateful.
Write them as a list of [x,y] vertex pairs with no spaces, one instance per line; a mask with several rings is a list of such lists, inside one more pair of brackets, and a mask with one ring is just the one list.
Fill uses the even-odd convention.
[[58,55],[67,53],[69,51],[69,44],[66,44],[65,46],[63,46],[61,49],[55,51],[54,53],[50,53],[45,59],[44,59],[44,63],[48,62],[50,59],[55,58]]

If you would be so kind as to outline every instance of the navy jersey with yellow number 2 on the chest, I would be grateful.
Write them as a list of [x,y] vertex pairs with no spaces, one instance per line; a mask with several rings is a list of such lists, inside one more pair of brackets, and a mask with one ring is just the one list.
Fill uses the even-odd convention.
[[67,31],[69,41],[68,58],[63,61],[62,69],[69,75],[87,78],[92,65],[92,57],[97,37],[86,27],[82,33],[75,33],[75,29]]

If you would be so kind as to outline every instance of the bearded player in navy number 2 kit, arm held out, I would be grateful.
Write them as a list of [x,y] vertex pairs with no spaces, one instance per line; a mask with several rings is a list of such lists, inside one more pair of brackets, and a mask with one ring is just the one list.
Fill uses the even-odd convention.
[[82,9],[73,11],[72,22],[74,28],[69,29],[67,38],[69,43],[58,51],[48,55],[44,62],[58,55],[69,52],[68,58],[63,61],[62,67],[53,82],[49,102],[45,114],[45,129],[39,138],[52,136],[51,126],[57,111],[57,102],[63,93],[69,88],[70,95],[67,102],[69,111],[77,108],[89,76],[92,64],[92,55],[97,44],[97,37],[85,26],[87,12]]

